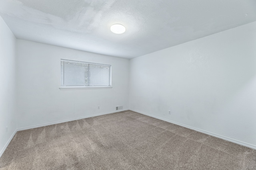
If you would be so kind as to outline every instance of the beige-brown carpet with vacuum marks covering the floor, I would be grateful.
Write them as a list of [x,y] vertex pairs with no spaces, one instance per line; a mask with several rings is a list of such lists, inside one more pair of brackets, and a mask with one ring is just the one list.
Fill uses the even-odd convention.
[[256,170],[256,150],[133,111],[19,131],[0,170]]

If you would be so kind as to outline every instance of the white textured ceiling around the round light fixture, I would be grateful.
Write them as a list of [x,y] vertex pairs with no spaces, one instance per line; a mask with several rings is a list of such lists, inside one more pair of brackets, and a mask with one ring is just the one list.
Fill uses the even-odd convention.
[[0,0],[0,16],[18,39],[133,58],[256,21],[256,0]]

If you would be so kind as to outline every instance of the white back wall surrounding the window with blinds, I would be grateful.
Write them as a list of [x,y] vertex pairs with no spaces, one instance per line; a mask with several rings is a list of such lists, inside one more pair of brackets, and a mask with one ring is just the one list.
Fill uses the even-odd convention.
[[[113,88],[60,90],[60,59],[112,65]],[[18,128],[128,109],[128,59],[18,39],[17,70]]]

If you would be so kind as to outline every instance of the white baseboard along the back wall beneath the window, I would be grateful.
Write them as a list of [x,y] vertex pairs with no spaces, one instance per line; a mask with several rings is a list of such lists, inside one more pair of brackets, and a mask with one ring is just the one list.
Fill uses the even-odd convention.
[[66,120],[62,120],[62,121],[54,121],[54,122],[50,122],[50,123],[43,123],[43,124],[40,124],[40,125],[33,125],[33,126],[28,126],[28,127],[22,127],[22,128],[18,128],[17,131],[23,131],[23,130],[27,130],[27,129],[33,129],[33,128],[43,127],[43,126],[48,126],[48,125],[54,125],[54,124],[58,124],[58,123],[64,123],[64,122],[84,119],[84,118],[88,118],[88,117],[95,117],[95,116],[100,116],[100,115],[106,115],[106,114],[116,113],[116,112],[126,111],[126,110],[129,110],[129,109],[120,109],[120,110],[110,111],[110,112],[106,112],[106,113],[99,113],[99,114],[95,114],[95,115],[88,115],[88,116],[83,116],[83,117],[76,117],[76,118],[73,118],[73,119],[66,119]]

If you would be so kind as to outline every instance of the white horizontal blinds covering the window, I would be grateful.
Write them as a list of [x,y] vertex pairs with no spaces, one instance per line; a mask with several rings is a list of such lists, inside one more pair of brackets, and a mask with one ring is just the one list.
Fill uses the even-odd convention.
[[111,86],[111,65],[61,59],[61,86]]

